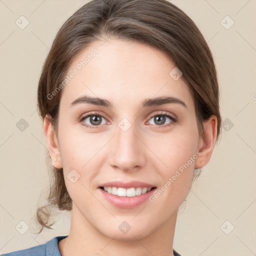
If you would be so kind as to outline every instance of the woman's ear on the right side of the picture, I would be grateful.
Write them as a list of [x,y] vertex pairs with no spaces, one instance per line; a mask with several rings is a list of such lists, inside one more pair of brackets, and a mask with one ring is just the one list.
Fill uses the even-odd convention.
[[194,168],[202,168],[205,166],[213,152],[214,143],[217,135],[217,117],[211,115],[207,121],[203,123],[204,138],[200,137],[197,151],[201,154],[197,157],[194,163]]

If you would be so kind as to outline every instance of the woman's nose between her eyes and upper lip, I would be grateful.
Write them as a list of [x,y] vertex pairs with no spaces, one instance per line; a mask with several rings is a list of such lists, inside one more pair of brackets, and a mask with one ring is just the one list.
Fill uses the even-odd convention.
[[111,141],[109,163],[113,168],[123,171],[141,168],[145,164],[146,146],[136,131],[135,125],[131,125],[124,131],[116,126],[116,135]]

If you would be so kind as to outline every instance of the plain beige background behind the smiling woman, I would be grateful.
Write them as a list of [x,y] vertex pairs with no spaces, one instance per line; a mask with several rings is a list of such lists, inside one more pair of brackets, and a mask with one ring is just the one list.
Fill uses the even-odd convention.
[[[69,232],[70,213],[65,213],[58,216],[54,230],[38,236],[32,233],[36,231],[35,207],[49,182],[36,90],[57,30],[85,2],[0,0],[0,253]],[[219,145],[178,215],[173,247],[182,256],[254,255],[256,0],[171,2],[194,20],[209,43],[218,71],[222,117],[233,123],[223,129]],[[15,24],[21,15],[29,21],[24,29]],[[229,29],[220,23],[226,15],[234,21]],[[228,25],[230,21],[222,22]],[[23,131],[16,127],[21,118],[28,123]],[[230,223],[221,228],[226,220]],[[30,227],[24,234],[15,228],[20,221]],[[234,229],[224,233],[231,225]]]

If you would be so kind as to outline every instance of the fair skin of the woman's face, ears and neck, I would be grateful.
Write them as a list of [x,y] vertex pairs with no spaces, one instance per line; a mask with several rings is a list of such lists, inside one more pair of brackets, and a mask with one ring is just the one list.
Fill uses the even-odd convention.
[[[173,255],[178,207],[189,191],[194,168],[203,167],[211,157],[217,119],[212,115],[204,122],[202,139],[183,77],[175,81],[169,75],[173,62],[160,50],[139,42],[93,42],[75,57],[68,73],[94,48],[99,53],[62,88],[57,135],[48,116],[44,119],[52,164],[63,167],[72,199],[70,232],[58,243],[60,253]],[[107,99],[113,107],[86,103],[70,107],[82,95]],[[166,95],[181,99],[187,108],[178,103],[141,108],[144,99]],[[78,119],[92,111],[105,117],[97,126],[84,119],[83,123],[96,127],[86,128]],[[177,121],[166,117],[164,124],[158,124],[153,116],[159,111],[175,115]],[[131,124],[125,132],[118,126],[123,118]],[[200,156],[154,202],[120,208],[106,201],[97,188],[113,179],[139,180],[160,188],[198,151]],[[74,183],[67,178],[72,169],[80,174]],[[118,229],[123,221],[131,226],[126,234]]]

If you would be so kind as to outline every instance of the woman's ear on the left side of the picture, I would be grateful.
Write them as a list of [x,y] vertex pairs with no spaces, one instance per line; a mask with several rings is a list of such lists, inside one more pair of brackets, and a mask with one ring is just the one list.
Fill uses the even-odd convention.
[[45,115],[43,120],[43,131],[46,137],[52,165],[55,168],[62,168],[57,136],[52,128],[52,125],[50,123],[50,117],[48,114]]

